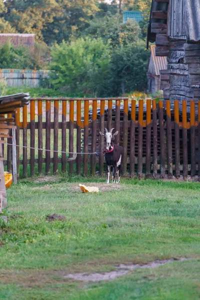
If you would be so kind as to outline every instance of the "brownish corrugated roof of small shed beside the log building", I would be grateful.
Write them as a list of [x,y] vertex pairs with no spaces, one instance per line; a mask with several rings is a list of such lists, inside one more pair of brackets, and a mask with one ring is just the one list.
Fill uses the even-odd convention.
[[155,45],[150,46],[150,61],[148,66],[148,72],[159,75],[160,70],[167,69],[166,56],[155,56]]

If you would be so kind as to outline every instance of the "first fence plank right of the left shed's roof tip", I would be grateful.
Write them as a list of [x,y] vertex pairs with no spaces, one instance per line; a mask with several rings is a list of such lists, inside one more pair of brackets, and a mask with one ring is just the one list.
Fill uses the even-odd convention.
[[34,175],[34,156],[35,156],[35,102],[30,101],[30,175]]

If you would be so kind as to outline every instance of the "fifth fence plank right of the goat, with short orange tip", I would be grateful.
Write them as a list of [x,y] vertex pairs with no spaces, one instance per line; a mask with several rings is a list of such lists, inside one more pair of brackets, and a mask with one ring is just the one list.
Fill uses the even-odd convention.
[[153,178],[157,178],[157,111],[156,101],[152,100],[152,123],[153,123]]

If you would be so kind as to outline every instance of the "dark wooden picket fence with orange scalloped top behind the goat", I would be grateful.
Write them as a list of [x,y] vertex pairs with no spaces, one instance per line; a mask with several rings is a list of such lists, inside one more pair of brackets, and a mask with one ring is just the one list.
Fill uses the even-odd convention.
[[[200,178],[200,101],[197,105],[190,101],[188,106],[185,100],[157,103],[147,99],[145,103],[143,100],[137,103],[124,97],[35,98],[28,107],[16,109],[15,122],[16,144],[24,146],[22,154],[17,147],[17,169],[22,164],[24,177],[28,164],[30,174],[34,175],[36,164],[39,173],[42,164],[45,173],[49,173],[51,163],[53,173],[61,163],[61,171],[67,169],[69,174],[102,175],[104,139],[99,130],[114,127],[120,132],[115,143],[124,147],[124,173],[154,178],[172,175]],[[67,161],[72,153],[65,152],[73,151],[78,152],[76,159]],[[10,145],[6,152],[4,164],[10,171]]]

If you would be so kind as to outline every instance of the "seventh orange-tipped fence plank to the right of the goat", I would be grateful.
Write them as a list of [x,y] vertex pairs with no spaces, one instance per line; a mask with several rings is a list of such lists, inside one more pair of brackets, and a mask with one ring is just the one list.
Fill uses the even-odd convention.
[[167,133],[167,164],[168,178],[172,178],[172,135],[171,135],[171,110],[170,100],[166,100],[166,133]]

